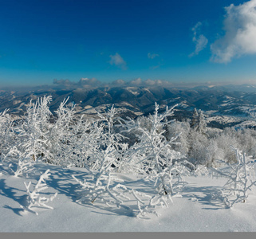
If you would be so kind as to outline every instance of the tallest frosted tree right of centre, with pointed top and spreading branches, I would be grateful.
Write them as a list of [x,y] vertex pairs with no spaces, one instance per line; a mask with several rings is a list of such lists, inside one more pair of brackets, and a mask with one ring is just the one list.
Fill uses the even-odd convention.
[[179,135],[169,141],[164,137],[164,128],[170,123],[166,119],[167,116],[172,116],[173,108],[167,108],[161,115],[158,112],[159,105],[156,104],[154,115],[148,118],[150,128],[141,125],[140,120],[131,119],[125,122],[127,131],[139,132],[139,142],[129,148],[121,169],[125,171],[128,168],[130,171],[139,171],[140,174],[150,174],[156,180],[160,197],[167,196],[170,199],[175,194],[174,178],[179,174],[177,166],[181,163],[181,154],[171,147]]

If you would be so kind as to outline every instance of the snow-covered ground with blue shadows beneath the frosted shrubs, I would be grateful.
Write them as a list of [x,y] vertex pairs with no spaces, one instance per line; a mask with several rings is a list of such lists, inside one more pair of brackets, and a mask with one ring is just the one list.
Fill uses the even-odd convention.
[[[33,208],[38,215],[23,210],[26,206],[26,184],[35,186],[40,174],[50,170],[47,197],[57,197],[46,208]],[[134,217],[124,208],[108,207],[100,202],[81,205],[76,202],[80,186],[72,175],[86,178],[85,169],[36,163],[34,174],[15,178],[7,163],[0,163],[0,232],[252,232],[256,231],[256,190],[249,193],[246,203],[226,209],[212,195],[226,182],[225,178],[189,176],[182,198],[172,198],[168,208],[159,208],[160,217]],[[147,183],[139,176],[120,175],[123,184],[147,192]],[[32,187],[31,187],[32,188]]]

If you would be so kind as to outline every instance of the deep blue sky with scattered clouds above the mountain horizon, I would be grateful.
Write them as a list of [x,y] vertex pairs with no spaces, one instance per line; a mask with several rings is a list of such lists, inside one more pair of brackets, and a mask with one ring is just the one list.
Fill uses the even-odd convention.
[[0,86],[254,82],[256,0],[0,0]]

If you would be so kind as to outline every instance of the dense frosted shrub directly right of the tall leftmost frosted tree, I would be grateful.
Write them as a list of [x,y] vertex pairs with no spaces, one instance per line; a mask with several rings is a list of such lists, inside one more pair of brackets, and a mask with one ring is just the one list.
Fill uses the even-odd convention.
[[49,134],[49,163],[62,167],[85,167],[88,159],[88,149],[93,147],[90,139],[97,138],[91,129],[91,123],[81,116],[75,117],[76,105],[64,99],[57,108],[56,121]]

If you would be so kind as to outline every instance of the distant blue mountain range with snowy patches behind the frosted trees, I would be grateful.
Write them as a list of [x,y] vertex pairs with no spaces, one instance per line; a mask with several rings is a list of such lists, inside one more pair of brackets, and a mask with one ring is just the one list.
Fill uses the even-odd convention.
[[148,115],[154,111],[155,102],[160,109],[179,104],[174,118],[191,118],[194,108],[203,110],[209,125],[225,127],[241,124],[254,127],[256,119],[256,87],[250,84],[196,86],[193,88],[147,85],[147,86],[82,86],[81,88],[34,88],[33,90],[0,90],[0,112],[21,116],[30,100],[40,96],[53,96],[50,109],[54,112],[61,101],[77,104],[77,113],[93,116],[96,110],[104,112],[115,104],[120,116],[132,118]]

